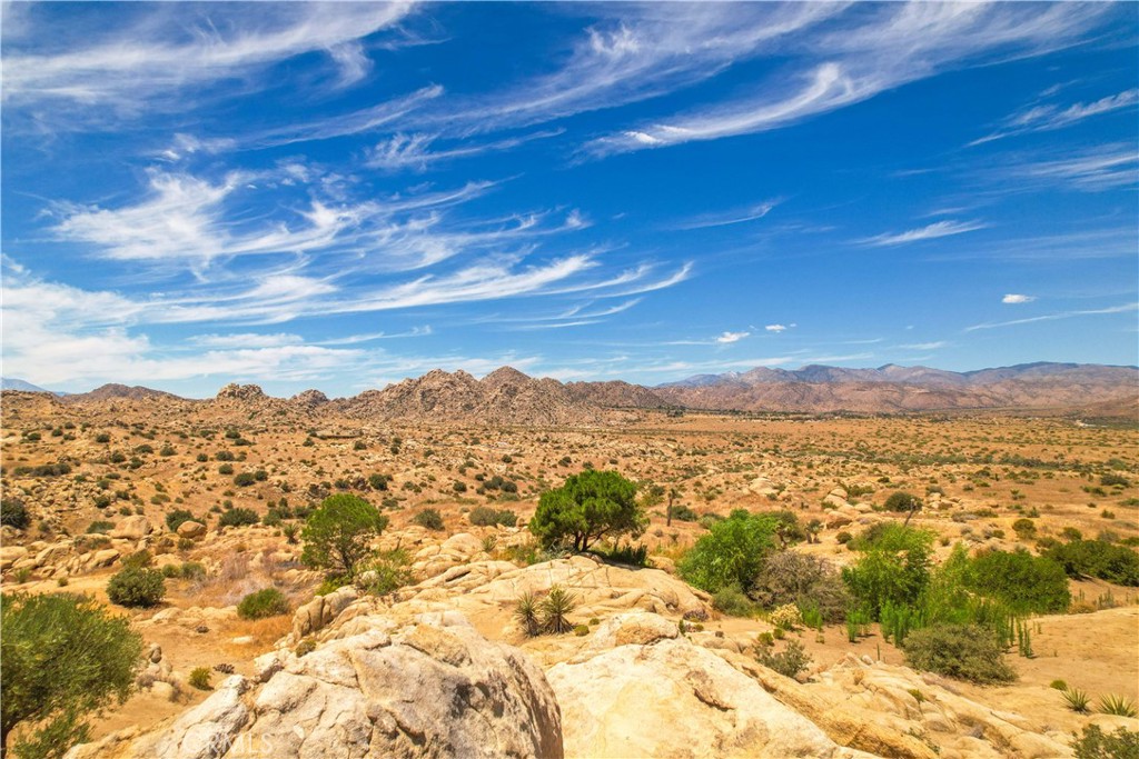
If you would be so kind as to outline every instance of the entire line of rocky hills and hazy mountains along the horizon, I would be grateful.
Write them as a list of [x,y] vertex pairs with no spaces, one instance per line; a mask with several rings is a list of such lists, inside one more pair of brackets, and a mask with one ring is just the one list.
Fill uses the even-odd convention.
[[[3,389],[46,393],[22,380],[5,380]],[[1139,368],[1034,363],[951,372],[894,364],[877,369],[810,365],[698,374],[649,388],[620,380],[562,383],[503,366],[483,379],[436,369],[382,390],[336,399],[320,390],[305,390],[289,399],[270,398],[255,385],[229,385],[212,401],[186,401],[124,385],[105,385],[62,398],[67,404],[109,401],[207,403],[230,413],[272,406],[276,413],[310,419],[338,415],[495,426],[600,424],[614,418],[613,410],[665,407],[808,413],[1082,410],[1139,419]]]

